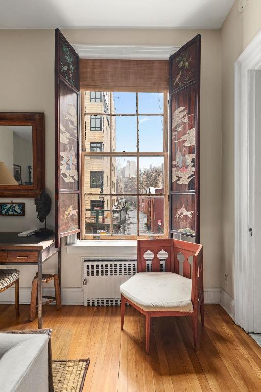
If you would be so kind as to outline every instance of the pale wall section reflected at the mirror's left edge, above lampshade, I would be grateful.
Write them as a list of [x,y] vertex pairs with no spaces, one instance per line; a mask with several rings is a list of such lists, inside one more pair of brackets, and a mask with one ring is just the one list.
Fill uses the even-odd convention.
[[4,126],[0,127],[0,162],[5,162],[13,175],[14,164],[14,132]]

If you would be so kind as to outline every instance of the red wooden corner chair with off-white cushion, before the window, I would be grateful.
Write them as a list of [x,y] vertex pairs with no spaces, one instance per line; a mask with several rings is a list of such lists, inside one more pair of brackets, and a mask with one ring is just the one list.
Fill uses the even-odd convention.
[[[168,254],[165,259],[165,272],[160,272],[161,261],[158,253],[162,250]],[[146,272],[148,260],[144,254],[147,251],[153,253],[151,272]],[[179,275],[178,255],[181,254],[184,257],[183,273]],[[190,256],[193,256],[192,265],[188,261]],[[194,348],[198,349],[199,309],[204,326],[202,245],[175,239],[138,240],[138,273],[120,286],[120,292],[122,329],[126,301],[145,315],[147,354],[151,317],[191,317]]]

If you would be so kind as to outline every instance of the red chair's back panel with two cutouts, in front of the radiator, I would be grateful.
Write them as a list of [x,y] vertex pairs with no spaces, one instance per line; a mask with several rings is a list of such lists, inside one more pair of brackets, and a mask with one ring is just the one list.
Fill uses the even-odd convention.
[[160,258],[158,253],[160,251],[167,252],[168,256],[165,259],[165,271],[173,272],[173,240],[172,239],[139,239],[138,240],[138,272],[146,272],[147,260],[145,253],[150,251],[153,253],[151,260],[151,271],[160,271]]

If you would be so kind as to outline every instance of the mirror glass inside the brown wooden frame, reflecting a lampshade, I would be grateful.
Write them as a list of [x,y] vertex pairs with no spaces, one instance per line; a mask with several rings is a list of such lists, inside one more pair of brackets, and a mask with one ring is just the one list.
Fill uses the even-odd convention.
[[32,186],[33,127],[0,125],[0,140],[0,162],[2,162],[0,183]]

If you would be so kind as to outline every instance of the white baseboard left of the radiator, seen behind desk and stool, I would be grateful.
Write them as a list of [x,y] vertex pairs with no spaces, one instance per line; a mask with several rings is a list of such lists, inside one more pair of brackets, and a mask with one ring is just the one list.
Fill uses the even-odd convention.
[[[43,294],[54,296],[54,288],[43,288]],[[83,290],[81,288],[62,288],[61,297],[63,305],[83,305]],[[31,287],[21,287],[19,289],[19,303],[30,304]],[[0,295],[0,304],[14,303],[14,288],[9,288]]]

